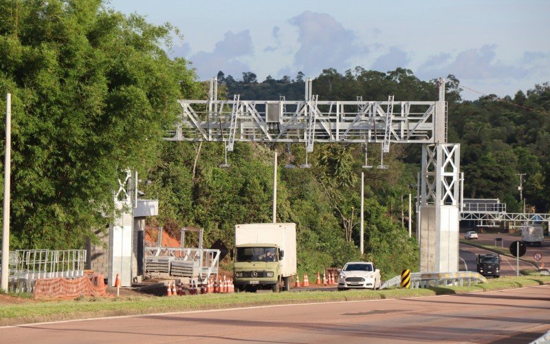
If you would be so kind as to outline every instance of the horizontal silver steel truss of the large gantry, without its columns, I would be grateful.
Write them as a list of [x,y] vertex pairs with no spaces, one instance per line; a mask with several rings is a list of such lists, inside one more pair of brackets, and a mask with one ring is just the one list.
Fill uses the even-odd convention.
[[[226,142],[390,143],[446,142],[444,101],[178,100],[181,116],[165,140]],[[211,87],[215,88],[215,87]],[[230,133],[229,136],[223,132]]]

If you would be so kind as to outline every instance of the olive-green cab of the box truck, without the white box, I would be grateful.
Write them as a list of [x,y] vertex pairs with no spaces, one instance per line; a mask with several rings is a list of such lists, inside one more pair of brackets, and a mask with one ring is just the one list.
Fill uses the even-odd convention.
[[234,251],[234,286],[238,292],[279,291],[284,251],[273,244],[243,244]]

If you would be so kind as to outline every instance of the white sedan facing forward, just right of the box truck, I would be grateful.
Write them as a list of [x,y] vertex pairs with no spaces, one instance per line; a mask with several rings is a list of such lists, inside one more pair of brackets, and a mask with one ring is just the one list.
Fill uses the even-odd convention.
[[350,261],[338,275],[338,290],[351,288],[379,289],[380,270],[369,261]]

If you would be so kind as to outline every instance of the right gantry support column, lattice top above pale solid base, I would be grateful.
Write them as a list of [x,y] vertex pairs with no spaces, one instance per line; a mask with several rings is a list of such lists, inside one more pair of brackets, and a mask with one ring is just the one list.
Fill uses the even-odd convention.
[[420,272],[459,268],[460,144],[423,144]]

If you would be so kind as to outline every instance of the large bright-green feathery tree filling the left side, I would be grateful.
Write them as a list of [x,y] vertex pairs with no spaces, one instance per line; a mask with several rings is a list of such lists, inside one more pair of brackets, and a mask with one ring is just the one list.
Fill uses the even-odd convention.
[[[121,170],[156,162],[180,96],[170,25],[102,1],[0,1],[0,91],[12,93],[12,247],[78,248],[113,213]],[[3,130],[3,128],[2,128]]]

